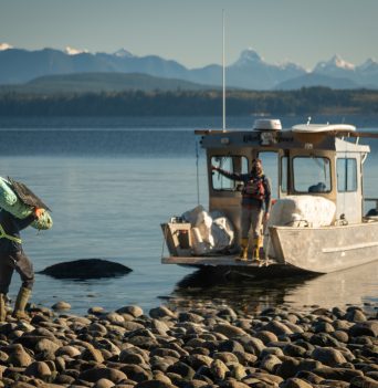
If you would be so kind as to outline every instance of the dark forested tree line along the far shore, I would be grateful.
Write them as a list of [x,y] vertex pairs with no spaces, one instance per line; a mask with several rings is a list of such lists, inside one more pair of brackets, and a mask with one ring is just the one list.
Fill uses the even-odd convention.
[[[221,113],[220,91],[0,94],[0,116],[217,116]],[[377,114],[378,91],[303,87],[287,92],[227,92],[227,115],[261,113]]]

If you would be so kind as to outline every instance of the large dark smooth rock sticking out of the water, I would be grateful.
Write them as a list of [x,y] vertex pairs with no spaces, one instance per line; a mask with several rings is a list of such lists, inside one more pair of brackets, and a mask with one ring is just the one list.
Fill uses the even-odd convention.
[[45,268],[39,273],[55,279],[99,279],[115,277],[129,273],[129,268],[103,259],[82,259]]

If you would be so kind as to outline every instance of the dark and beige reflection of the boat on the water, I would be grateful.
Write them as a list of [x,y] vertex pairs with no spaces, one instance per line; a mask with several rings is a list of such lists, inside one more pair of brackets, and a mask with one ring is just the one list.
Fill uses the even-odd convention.
[[177,283],[168,304],[175,307],[224,306],[258,313],[272,306],[311,310],[348,304],[378,305],[377,262],[325,275],[251,279],[198,270]]

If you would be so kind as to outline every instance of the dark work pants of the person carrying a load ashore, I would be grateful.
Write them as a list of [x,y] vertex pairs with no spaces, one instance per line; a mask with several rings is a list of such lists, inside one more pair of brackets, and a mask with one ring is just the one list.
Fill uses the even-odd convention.
[[32,290],[34,284],[33,264],[23,251],[0,253],[0,294],[7,294],[14,270],[20,274],[22,286]]

